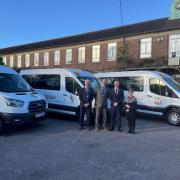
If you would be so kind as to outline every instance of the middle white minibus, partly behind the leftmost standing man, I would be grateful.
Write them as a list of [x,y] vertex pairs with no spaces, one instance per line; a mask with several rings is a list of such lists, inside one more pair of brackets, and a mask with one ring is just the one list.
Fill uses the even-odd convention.
[[29,69],[20,72],[22,77],[37,91],[45,95],[48,110],[69,115],[79,115],[78,92],[88,79],[95,89],[98,80],[89,72],[78,69]]

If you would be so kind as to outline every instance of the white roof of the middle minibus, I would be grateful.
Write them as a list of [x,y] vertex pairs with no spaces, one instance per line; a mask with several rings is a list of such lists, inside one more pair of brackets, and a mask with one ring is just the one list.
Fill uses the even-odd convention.
[[75,69],[75,68],[48,68],[48,69],[26,69],[26,70],[21,70],[20,74],[21,75],[31,75],[31,74],[56,74],[60,72],[65,72],[67,74],[75,74],[79,76],[93,76],[91,73],[87,71],[82,71],[80,69]]

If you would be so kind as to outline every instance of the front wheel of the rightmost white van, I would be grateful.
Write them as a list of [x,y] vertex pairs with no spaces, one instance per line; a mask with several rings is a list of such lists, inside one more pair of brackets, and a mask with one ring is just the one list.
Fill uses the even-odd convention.
[[166,118],[169,124],[177,126],[180,124],[180,112],[177,109],[171,109],[167,112]]

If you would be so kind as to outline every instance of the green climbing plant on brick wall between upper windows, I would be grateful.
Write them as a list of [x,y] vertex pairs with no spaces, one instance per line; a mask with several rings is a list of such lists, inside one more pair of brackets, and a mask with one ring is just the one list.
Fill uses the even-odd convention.
[[128,58],[128,44],[126,42],[126,39],[123,37],[123,42],[119,48],[118,57],[117,57],[118,64],[120,64],[122,71],[125,69],[125,63],[127,58]]

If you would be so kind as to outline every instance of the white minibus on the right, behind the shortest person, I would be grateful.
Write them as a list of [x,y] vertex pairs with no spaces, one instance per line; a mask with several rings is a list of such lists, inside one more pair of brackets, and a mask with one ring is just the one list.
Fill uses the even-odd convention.
[[119,80],[125,96],[128,88],[133,88],[138,112],[164,116],[170,124],[180,124],[180,84],[171,76],[156,71],[124,71],[97,73],[95,77],[107,79],[109,88]]

